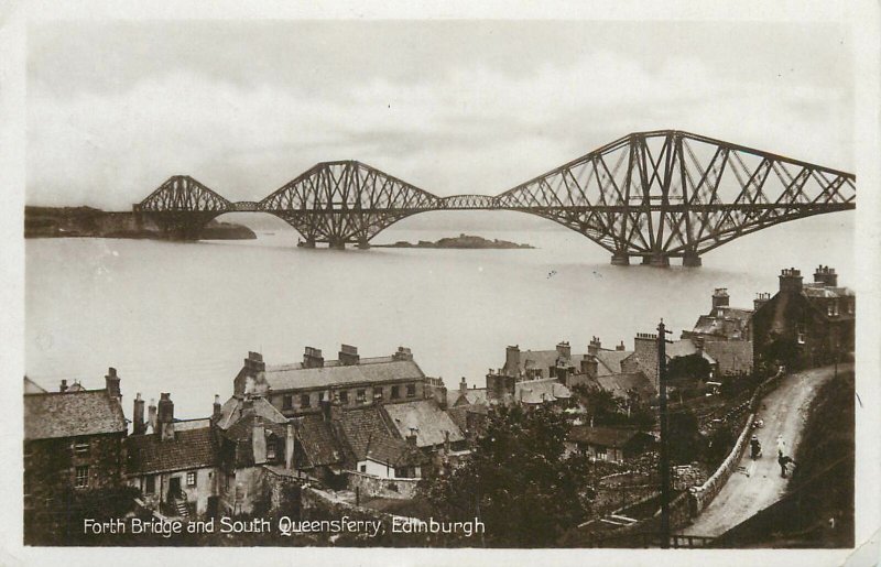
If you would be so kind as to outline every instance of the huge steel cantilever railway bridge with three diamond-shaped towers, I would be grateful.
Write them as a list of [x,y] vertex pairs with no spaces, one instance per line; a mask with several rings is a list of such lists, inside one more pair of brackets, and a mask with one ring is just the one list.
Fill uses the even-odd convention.
[[853,174],[675,130],[632,133],[500,195],[438,197],[356,161],[323,162],[260,201],[232,203],[176,175],[138,205],[168,238],[195,240],[215,217],[275,215],[305,239],[369,248],[432,210],[516,210],[579,232],[612,263],[700,265],[700,255],[763,228],[856,207]]

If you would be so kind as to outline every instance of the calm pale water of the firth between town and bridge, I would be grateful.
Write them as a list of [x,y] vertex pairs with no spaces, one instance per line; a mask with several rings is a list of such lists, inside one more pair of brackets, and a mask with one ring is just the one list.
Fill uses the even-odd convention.
[[[305,346],[335,359],[340,342],[363,357],[403,345],[447,386],[460,377],[482,385],[507,345],[568,340],[580,353],[597,335],[603,346],[632,348],[634,334],[653,331],[661,317],[678,336],[708,310],[714,287],[750,307],[757,292],[776,291],[784,266],[811,281],[828,264],[840,284],[855,281],[853,212],[765,229],[705,255],[700,269],[668,270],[612,266],[580,235],[519,230],[519,215],[486,215],[455,230],[407,219],[374,243],[466,231],[540,248],[306,250],[283,223],[261,225],[255,241],[29,240],[26,373],[53,390],[62,378],[102,388],[112,366],[127,412],[135,392],[171,392],[176,416],[197,417],[210,413],[215,393],[231,394],[249,350],[281,363],[301,360]],[[481,219],[493,230],[481,230]]]

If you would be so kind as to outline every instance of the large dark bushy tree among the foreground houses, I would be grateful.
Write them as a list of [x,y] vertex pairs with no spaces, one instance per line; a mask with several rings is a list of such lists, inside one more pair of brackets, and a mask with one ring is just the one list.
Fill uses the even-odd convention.
[[471,458],[421,490],[437,516],[480,517],[489,545],[554,545],[589,506],[587,459],[565,455],[568,430],[565,417],[547,406],[493,408]]

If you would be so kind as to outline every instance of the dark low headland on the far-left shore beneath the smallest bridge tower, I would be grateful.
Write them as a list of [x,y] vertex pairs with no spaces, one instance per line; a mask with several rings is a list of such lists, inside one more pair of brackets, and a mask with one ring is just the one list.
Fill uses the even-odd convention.
[[[24,238],[148,238],[165,239],[149,219],[138,222],[133,212],[108,212],[93,207],[24,207]],[[210,220],[203,240],[252,240],[248,227]]]

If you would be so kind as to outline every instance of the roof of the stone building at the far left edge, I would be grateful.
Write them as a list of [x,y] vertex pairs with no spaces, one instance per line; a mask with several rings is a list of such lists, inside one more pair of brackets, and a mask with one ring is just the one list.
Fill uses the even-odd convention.
[[24,395],[24,438],[55,439],[126,432],[126,416],[107,390]]

